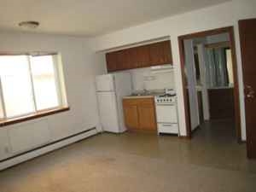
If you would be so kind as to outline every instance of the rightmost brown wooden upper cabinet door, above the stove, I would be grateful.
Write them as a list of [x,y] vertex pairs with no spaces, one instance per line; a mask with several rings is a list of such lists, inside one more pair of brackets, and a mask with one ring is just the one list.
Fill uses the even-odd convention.
[[150,45],[150,65],[172,64],[172,49],[170,41]]

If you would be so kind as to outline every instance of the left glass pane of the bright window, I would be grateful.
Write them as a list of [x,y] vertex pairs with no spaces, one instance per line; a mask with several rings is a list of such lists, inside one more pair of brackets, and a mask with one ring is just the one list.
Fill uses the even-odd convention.
[[0,56],[0,76],[6,116],[34,112],[28,57]]

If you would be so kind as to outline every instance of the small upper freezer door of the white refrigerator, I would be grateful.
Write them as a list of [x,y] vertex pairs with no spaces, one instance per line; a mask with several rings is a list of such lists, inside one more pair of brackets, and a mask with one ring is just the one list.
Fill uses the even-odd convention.
[[113,75],[99,75],[96,76],[96,90],[97,91],[113,91],[114,83],[113,83]]

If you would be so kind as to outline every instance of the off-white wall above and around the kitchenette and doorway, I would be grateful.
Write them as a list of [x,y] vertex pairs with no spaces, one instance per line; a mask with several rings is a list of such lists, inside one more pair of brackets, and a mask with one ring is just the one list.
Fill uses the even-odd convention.
[[241,75],[241,53],[239,45],[239,34],[237,20],[256,17],[255,0],[233,0],[228,3],[219,4],[206,9],[195,10],[183,15],[167,17],[162,20],[145,23],[112,32],[95,39],[94,49],[111,49],[127,44],[135,44],[153,38],[170,36],[172,40],[172,56],[175,66],[175,81],[177,84],[177,104],[179,113],[180,132],[186,135],[183,108],[182,78],[179,60],[177,37],[191,32],[201,32],[224,26],[235,26],[236,53],[238,61],[238,75],[241,96],[241,136],[246,139],[245,112],[243,98],[243,85]]

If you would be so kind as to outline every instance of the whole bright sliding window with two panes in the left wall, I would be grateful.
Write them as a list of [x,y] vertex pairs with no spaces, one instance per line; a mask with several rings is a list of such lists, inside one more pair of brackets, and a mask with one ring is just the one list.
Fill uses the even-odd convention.
[[0,118],[64,106],[58,55],[0,55]]

